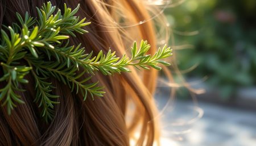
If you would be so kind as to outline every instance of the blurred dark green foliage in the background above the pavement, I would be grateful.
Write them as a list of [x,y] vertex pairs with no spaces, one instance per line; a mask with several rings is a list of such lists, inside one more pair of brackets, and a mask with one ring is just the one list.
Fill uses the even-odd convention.
[[[208,76],[206,83],[222,99],[235,97],[238,87],[256,84],[256,1],[187,0],[165,13],[176,45],[195,46],[177,51],[181,70],[199,63],[185,77]],[[177,31],[199,33],[182,36]]]

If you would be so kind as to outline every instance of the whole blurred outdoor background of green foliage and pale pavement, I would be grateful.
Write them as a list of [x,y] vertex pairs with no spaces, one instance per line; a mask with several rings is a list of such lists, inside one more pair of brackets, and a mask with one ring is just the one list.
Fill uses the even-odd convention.
[[179,69],[206,92],[191,98],[181,87],[168,101],[170,90],[159,87],[163,145],[256,145],[256,1],[172,3],[169,44],[183,46],[174,48]]

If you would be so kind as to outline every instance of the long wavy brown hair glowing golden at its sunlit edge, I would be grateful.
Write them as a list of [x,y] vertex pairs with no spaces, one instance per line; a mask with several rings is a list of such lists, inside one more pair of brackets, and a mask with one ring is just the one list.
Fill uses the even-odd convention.
[[[0,26],[9,26],[18,20],[15,12],[24,15],[26,11],[36,17],[36,6],[44,0],[0,0]],[[53,0],[53,5],[63,9],[63,3],[75,8],[80,3],[77,13],[80,18],[89,18],[92,22],[85,35],[71,38],[71,43],[82,43],[86,51],[108,51],[109,47],[122,55],[134,39],[144,39],[151,44],[150,53],[155,52],[156,39],[151,21],[124,29],[118,26],[120,14],[114,7],[127,16],[126,21],[138,23],[150,18],[142,2],[138,0]],[[132,33],[131,33],[132,32]],[[134,34],[135,35],[132,35]],[[130,39],[130,38],[134,39]],[[2,70],[0,69],[0,76]],[[139,75],[140,74],[140,75]],[[156,107],[154,94],[157,72],[154,69],[137,73],[103,76],[98,73],[92,80],[99,80],[105,86],[103,98],[90,98],[84,102],[81,95],[72,94],[69,88],[51,78],[60,95],[60,104],[55,106],[55,118],[47,124],[40,117],[38,105],[34,101],[34,81],[30,74],[27,91],[19,93],[25,102],[18,105],[11,115],[5,107],[0,110],[0,145],[130,145],[135,131],[139,131],[137,145],[153,145],[157,142],[158,123],[154,119]],[[84,75],[86,77],[86,74]],[[3,85],[0,85],[0,88]],[[131,104],[129,104],[131,103]],[[129,106],[131,105],[131,106]],[[129,109],[129,110],[128,110]],[[129,119],[127,119],[129,115]]]

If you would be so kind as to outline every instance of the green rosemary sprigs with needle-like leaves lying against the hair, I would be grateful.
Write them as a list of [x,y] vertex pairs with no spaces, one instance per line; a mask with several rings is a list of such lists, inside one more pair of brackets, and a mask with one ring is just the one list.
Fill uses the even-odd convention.
[[[3,76],[0,77],[0,84],[5,86],[0,89],[0,101],[2,106],[7,107],[11,114],[16,103],[24,103],[16,91],[21,89],[22,84],[27,84],[26,74],[31,73],[35,80],[36,97],[34,102],[42,108],[42,116],[48,120],[54,117],[54,104],[59,96],[52,94],[55,87],[49,82],[49,77],[68,85],[72,92],[81,93],[84,100],[90,97],[102,97],[103,87],[98,86],[98,82],[88,83],[91,77],[82,78],[85,73],[100,71],[105,75],[113,73],[130,72],[127,66],[149,69],[148,66],[160,70],[158,64],[170,65],[162,61],[172,55],[170,47],[158,49],[155,55],[146,55],[150,45],[147,41],[141,41],[137,48],[134,42],[131,47],[131,58],[123,55],[121,58],[115,56],[115,52],[109,50],[104,55],[102,51],[97,56],[92,56],[93,52],[86,54],[85,49],[79,44],[77,47],[63,46],[63,40],[68,40],[69,36],[76,36],[74,32],[84,34],[82,27],[90,24],[85,23],[85,18],[79,20],[74,16],[79,10],[71,10],[64,4],[64,13],[60,10],[55,12],[56,7],[50,2],[44,4],[41,9],[37,8],[38,19],[31,18],[28,13],[22,18],[16,14],[20,24],[13,23],[13,26],[6,27],[6,32],[1,30],[0,62]],[[28,66],[20,64],[20,60],[25,60]],[[22,61],[24,62],[24,61]],[[80,70],[80,73],[77,71]],[[3,83],[5,82],[5,83]]]

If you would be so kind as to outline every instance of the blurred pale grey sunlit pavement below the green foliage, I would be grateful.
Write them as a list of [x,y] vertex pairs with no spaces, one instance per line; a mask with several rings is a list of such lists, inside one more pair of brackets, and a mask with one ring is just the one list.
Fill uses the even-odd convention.
[[191,100],[167,103],[159,93],[156,101],[160,111],[168,104],[160,115],[163,146],[256,145],[256,111],[207,102],[197,108]]

